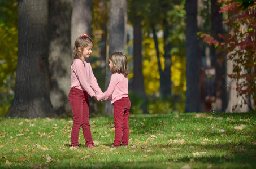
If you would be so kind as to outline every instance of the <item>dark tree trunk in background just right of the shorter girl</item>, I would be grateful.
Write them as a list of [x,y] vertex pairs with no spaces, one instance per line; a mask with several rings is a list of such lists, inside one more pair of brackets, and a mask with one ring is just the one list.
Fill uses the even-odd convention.
[[144,88],[144,77],[142,74],[142,34],[141,34],[141,20],[137,21],[134,24],[134,31],[133,31],[134,39],[133,39],[133,79],[132,79],[132,90],[136,92],[138,95],[142,97],[144,100],[141,109],[143,114],[147,113],[146,107],[146,93]]

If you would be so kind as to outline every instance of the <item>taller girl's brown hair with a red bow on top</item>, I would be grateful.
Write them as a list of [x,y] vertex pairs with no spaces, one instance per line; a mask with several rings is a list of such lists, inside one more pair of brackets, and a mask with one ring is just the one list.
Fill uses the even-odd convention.
[[[93,40],[90,37],[88,37],[87,35],[81,35],[80,37],[76,38],[76,41],[75,41],[74,47],[73,47],[73,61],[72,61],[72,64],[75,61],[75,59],[82,60],[81,59],[82,52],[89,45],[92,45],[92,48],[93,48],[94,43],[93,43]],[[78,49],[79,47],[81,47],[82,52],[79,51],[79,49]]]

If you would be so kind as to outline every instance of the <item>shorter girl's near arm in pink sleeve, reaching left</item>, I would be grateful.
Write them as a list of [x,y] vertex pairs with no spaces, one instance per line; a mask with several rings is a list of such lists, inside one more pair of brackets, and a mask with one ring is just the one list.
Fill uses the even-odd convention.
[[116,74],[112,74],[110,78],[109,87],[107,87],[107,90],[103,94],[97,95],[97,100],[99,101],[99,100],[112,99],[112,94],[118,82],[119,82],[118,76]]

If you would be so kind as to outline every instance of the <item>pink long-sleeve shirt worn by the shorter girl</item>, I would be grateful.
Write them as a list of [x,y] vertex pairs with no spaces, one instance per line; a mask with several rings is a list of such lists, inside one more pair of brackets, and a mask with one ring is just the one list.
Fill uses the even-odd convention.
[[98,101],[112,99],[112,104],[123,97],[128,97],[128,79],[122,73],[112,74],[107,90],[103,94],[97,94]]

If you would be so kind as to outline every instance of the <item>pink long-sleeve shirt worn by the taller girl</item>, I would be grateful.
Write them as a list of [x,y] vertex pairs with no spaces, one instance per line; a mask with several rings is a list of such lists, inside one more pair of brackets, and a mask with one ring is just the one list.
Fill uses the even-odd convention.
[[88,61],[84,61],[84,64],[82,60],[75,59],[71,65],[71,88],[86,91],[91,97],[95,94],[102,94],[93,74],[92,66]]

